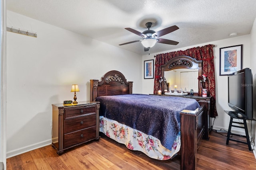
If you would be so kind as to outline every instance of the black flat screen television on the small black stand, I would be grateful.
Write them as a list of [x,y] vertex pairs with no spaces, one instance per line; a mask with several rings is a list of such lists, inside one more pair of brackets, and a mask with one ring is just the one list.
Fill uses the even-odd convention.
[[234,109],[238,117],[253,119],[252,88],[250,68],[244,68],[228,76],[228,106]]

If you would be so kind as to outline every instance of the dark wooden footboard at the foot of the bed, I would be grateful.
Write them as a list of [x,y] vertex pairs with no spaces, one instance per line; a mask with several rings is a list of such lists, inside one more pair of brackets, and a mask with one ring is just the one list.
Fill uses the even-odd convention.
[[197,168],[197,148],[201,139],[208,139],[204,135],[207,125],[207,109],[198,107],[195,111],[182,110],[180,112],[180,140],[181,140],[181,170],[195,170]]

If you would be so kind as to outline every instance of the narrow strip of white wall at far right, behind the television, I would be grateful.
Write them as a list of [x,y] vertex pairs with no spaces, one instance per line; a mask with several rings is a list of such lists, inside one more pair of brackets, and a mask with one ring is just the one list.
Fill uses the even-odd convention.
[[[252,26],[251,30],[251,55],[250,55],[250,68],[252,69],[252,75],[253,75],[253,84],[256,84],[256,19],[254,20],[254,24]],[[253,103],[254,103],[254,119],[256,117],[256,86],[253,86]],[[247,123],[248,124],[248,123]],[[249,126],[250,127],[250,126]],[[248,128],[249,128],[248,127]],[[249,129],[249,133],[252,133],[251,135],[251,143],[252,143],[252,149],[256,158],[256,121],[252,121],[252,129]]]

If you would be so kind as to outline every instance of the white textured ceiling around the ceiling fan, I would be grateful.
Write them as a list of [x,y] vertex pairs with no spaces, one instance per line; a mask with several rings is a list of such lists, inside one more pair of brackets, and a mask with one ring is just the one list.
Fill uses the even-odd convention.
[[142,39],[127,31],[143,32],[147,21],[159,31],[180,29],[162,36],[178,45],[156,43],[150,53],[250,34],[256,18],[256,0],[7,0],[7,10],[56,25],[99,41],[146,55]]

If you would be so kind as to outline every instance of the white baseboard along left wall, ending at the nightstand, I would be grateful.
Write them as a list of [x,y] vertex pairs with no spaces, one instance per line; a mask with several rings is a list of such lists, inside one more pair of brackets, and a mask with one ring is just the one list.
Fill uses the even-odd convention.
[[10,150],[10,151],[6,152],[6,158],[10,158],[10,157],[28,152],[30,150],[38,149],[38,148],[45,147],[45,146],[51,145],[51,144],[52,144],[52,139],[49,139],[49,140],[46,140],[46,141],[42,141],[42,142],[39,142],[39,143],[28,145],[26,147],[18,148],[18,149],[15,149],[15,150]]

